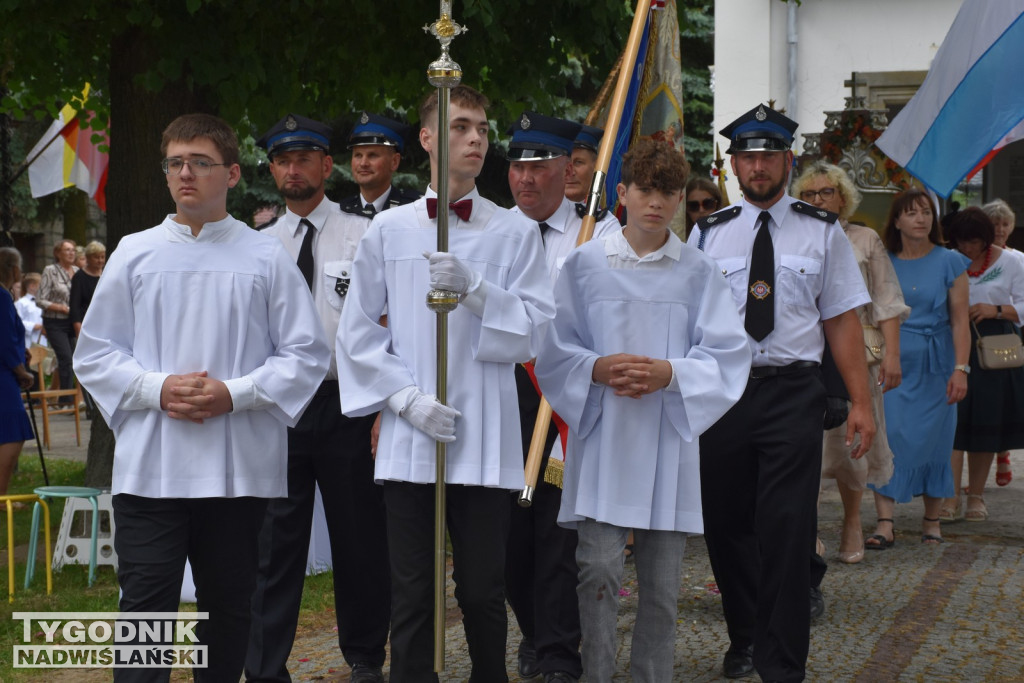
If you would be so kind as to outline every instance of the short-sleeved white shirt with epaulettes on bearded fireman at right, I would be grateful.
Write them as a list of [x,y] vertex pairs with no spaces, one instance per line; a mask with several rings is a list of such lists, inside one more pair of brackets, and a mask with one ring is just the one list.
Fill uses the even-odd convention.
[[[820,362],[824,350],[821,321],[871,301],[843,228],[838,222],[797,213],[796,203],[783,195],[768,209],[775,250],[775,328],[761,341],[750,337],[754,366]],[[703,251],[718,261],[742,319],[761,209],[745,200],[735,206],[741,207],[738,216],[703,230]],[[692,230],[689,244],[696,246],[700,234],[700,229]]]

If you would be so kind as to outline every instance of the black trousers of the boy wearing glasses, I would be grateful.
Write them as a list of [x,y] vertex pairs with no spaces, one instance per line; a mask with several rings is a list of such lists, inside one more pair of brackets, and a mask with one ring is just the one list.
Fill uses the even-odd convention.
[[[185,558],[191,563],[199,611],[210,618],[196,635],[209,668],[196,681],[238,681],[249,637],[249,600],[256,586],[257,537],[263,498],[113,499],[118,532],[121,611],[176,612]],[[115,681],[167,681],[170,669],[115,669]]]

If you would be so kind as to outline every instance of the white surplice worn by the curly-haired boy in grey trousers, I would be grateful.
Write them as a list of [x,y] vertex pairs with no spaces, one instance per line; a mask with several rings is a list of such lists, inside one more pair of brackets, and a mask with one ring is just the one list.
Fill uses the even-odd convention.
[[[537,377],[569,426],[558,522],[703,531],[698,436],[739,399],[751,357],[713,259],[674,233],[639,258],[621,232],[572,252]],[[668,359],[676,382],[640,398],[592,381],[598,357]]]

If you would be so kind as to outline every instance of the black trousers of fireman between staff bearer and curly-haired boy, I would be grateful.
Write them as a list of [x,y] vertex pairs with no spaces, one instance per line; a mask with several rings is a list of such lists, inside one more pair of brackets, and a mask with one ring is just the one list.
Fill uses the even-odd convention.
[[[516,366],[516,385],[525,461],[541,399],[521,366]],[[558,430],[552,424],[545,454],[551,452],[557,437]],[[580,602],[575,592],[580,574],[575,562],[577,532],[558,525],[562,490],[544,482],[543,477],[542,468],[532,506],[519,507],[518,496],[510,501],[512,516],[505,560],[505,596],[523,638],[534,641],[541,672],[563,671],[580,678],[583,664]]]

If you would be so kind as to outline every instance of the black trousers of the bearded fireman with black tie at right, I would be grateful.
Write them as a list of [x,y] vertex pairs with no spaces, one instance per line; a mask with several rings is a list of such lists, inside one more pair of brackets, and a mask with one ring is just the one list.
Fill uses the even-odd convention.
[[821,477],[820,372],[752,379],[700,437],[705,540],[729,639],[762,679],[804,679]]

